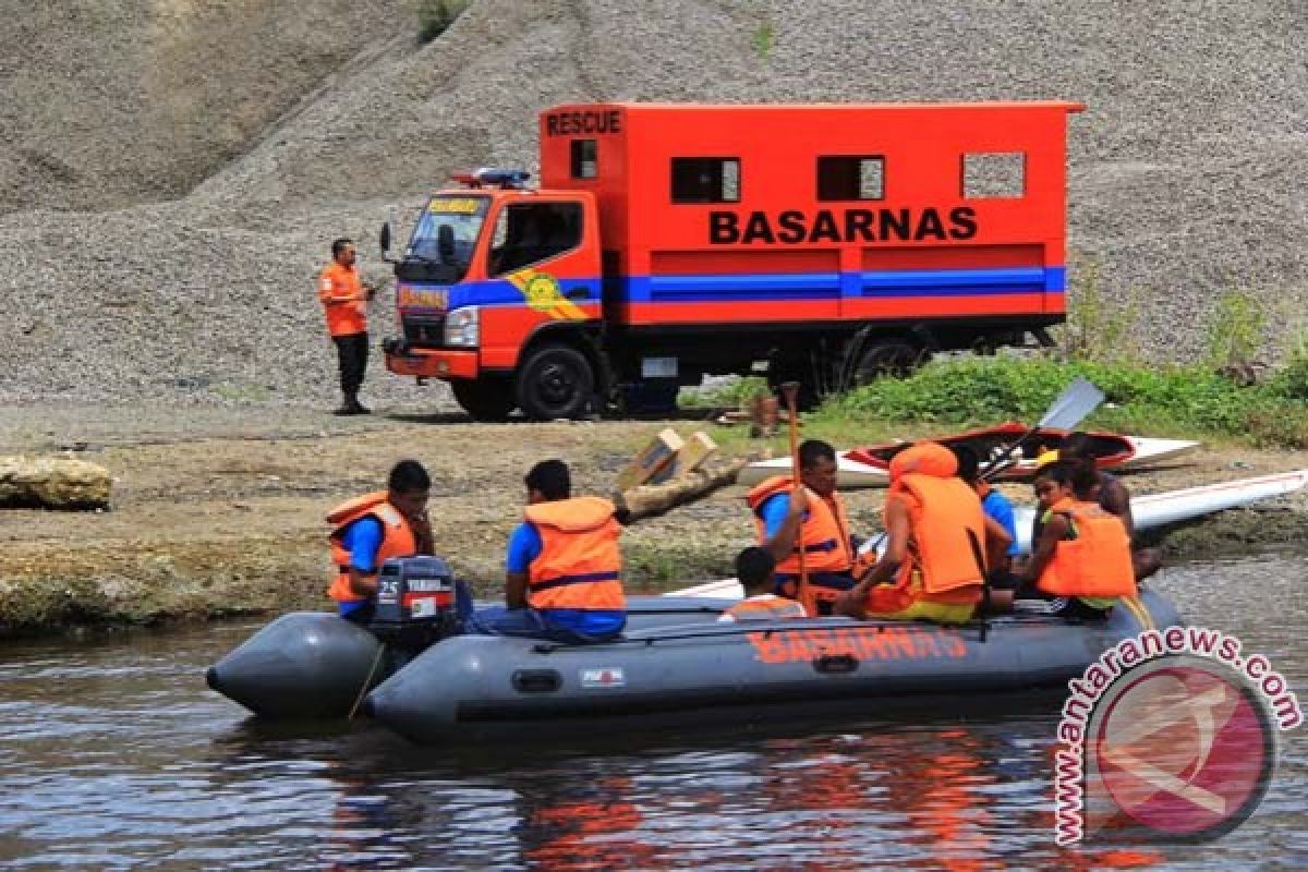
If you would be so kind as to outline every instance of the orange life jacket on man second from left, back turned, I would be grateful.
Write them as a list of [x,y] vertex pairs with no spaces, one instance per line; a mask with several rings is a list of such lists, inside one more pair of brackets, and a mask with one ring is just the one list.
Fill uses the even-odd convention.
[[527,522],[540,533],[540,556],[527,574],[527,603],[535,609],[621,611],[621,527],[613,503],[573,497],[527,506]]

